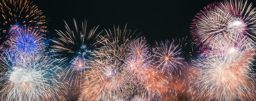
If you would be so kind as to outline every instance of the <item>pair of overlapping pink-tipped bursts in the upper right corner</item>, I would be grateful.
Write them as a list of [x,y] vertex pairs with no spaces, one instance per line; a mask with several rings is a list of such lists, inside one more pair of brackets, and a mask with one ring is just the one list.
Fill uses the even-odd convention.
[[197,13],[191,25],[191,34],[197,45],[202,45],[201,50],[215,48],[218,46],[213,44],[221,41],[220,38],[236,40],[233,36],[253,37],[256,34],[255,16],[255,8],[252,8],[252,3],[248,5],[247,1],[213,3]]

